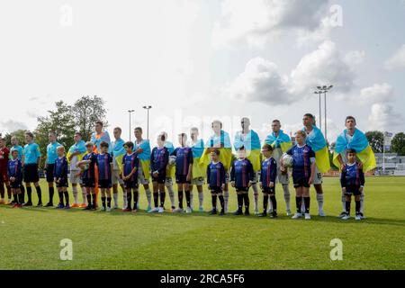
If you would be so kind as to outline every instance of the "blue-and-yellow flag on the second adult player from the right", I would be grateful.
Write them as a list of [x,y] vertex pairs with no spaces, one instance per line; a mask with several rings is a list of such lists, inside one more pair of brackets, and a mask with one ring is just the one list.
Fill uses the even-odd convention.
[[[330,170],[329,150],[322,131],[315,125],[312,126],[312,133],[307,135],[306,143],[315,152],[316,164],[320,173],[327,173]],[[305,131],[305,128],[302,130]]]

